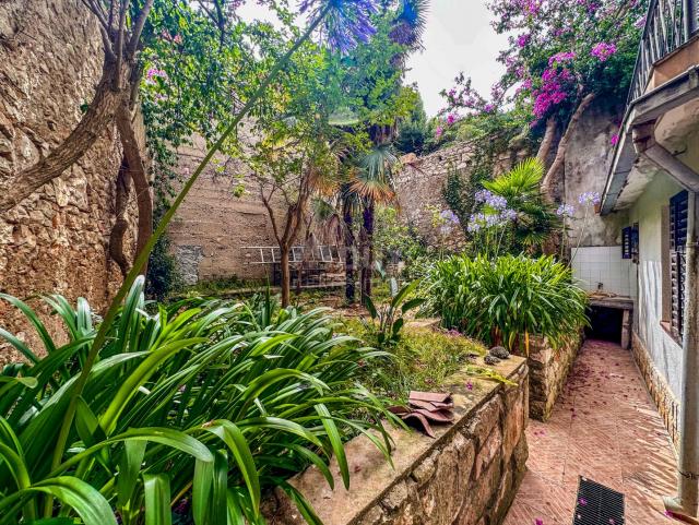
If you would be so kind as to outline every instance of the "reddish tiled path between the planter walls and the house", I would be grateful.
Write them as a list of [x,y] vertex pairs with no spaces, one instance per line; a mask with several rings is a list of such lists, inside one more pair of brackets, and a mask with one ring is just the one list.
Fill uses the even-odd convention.
[[631,354],[584,344],[552,418],[530,420],[528,472],[505,525],[571,525],[582,475],[626,496],[627,525],[677,523],[661,498],[675,492],[676,457]]

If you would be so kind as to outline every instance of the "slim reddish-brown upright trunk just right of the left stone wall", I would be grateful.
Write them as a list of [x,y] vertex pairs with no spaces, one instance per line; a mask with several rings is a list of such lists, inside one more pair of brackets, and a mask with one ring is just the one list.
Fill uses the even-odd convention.
[[[149,184],[144,152],[139,144],[139,138],[133,128],[133,119],[129,109],[129,100],[125,99],[117,109],[117,128],[121,136],[123,156],[129,165],[129,175],[133,180],[135,199],[139,207],[139,226],[137,234],[137,255],[145,247],[153,235],[153,196]],[[141,274],[147,272],[147,263],[141,269]]]

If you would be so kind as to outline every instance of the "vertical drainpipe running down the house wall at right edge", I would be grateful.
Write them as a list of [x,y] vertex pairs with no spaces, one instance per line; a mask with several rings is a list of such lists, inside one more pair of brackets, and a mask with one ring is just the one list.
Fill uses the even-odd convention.
[[699,193],[689,194],[688,205],[677,497],[666,498],[665,506],[674,514],[697,517],[699,512],[699,256],[697,253]]

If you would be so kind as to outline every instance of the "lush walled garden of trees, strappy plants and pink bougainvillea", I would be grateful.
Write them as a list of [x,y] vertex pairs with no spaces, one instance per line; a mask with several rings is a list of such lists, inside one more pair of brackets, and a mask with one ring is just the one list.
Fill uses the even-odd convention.
[[[505,75],[489,97],[458,76],[431,119],[404,80],[427,0],[259,2],[273,22],[237,0],[78,3],[100,35],[97,91],[74,133],[2,179],[0,213],[114,127],[119,278],[104,308],[0,288],[0,314],[21,318],[0,317],[17,356],[0,374],[0,525],[263,524],[277,491],[321,525],[300,473],[350,489],[357,438],[391,465],[396,429],[454,425],[454,377],[509,399],[526,384],[503,371],[511,356],[544,345],[572,362],[589,324],[572,263],[600,194],[573,204],[553,188],[580,114],[626,96],[643,2],[493,2]],[[206,154],[182,174],[192,135]],[[399,203],[401,156],[459,141],[473,164],[448,166],[419,229]],[[225,198],[254,194],[268,214],[279,289],[181,282],[169,228],[228,160],[247,175]],[[343,249],[341,286],[295,290],[294,248],[322,243]]]

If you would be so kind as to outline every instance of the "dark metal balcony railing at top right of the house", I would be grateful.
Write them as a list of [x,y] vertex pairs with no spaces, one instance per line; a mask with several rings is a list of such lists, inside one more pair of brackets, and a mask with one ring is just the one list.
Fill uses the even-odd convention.
[[628,104],[644,92],[653,64],[699,32],[699,0],[651,0]]

